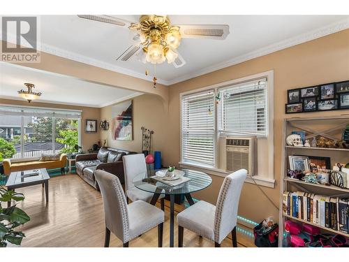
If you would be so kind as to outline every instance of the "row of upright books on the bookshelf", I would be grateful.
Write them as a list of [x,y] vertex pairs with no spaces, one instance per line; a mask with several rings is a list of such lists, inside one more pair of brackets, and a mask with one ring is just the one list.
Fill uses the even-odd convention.
[[315,225],[349,233],[349,201],[301,191],[285,191],[283,212]]

